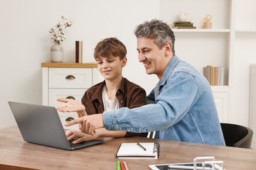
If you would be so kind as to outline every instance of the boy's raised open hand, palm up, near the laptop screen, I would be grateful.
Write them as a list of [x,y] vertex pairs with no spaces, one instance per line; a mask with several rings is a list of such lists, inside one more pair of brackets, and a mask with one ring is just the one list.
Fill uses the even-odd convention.
[[62,106],[56,107],[56,109],[60,112],[77,112],[77,116],[79,118],[87,115],[85,112],[85,106],[82,105],[79,101],[64,98],[58,98],[57,101],[65,103]]

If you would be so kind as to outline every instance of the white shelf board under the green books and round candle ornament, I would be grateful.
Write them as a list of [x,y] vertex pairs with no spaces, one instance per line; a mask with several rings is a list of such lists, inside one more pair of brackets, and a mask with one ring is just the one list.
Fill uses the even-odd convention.
[[229,33],[230,29],[172,29],[173,32],[185,33]]

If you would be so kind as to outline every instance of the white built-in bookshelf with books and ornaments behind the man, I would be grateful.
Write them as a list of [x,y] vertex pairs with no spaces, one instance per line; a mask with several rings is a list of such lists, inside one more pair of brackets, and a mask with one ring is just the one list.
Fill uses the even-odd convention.
[[[199,8],[200,7],[200,8]],[[160,0],[160,19],[170,26],[186,12],[187,21],[196,29],[173,29],[175,53],[203,73],[203,67],[224,67],[224,86],[211,86],[219,119],[228,122],[230,93],[234,85],[234,41],[236,32],[256,31],[235,29],[236,0]],[[203,29],[204,17],[210,14],[212,28]]]

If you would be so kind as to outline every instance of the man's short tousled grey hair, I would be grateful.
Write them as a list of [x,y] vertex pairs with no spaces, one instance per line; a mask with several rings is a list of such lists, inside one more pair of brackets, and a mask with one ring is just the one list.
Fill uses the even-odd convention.
[[175,55],[175,35],[171,30],[171,27],[161,20],[151,20],[150,22],[146,21],[143,24],[137,25],[134,31],[137,39],[144,37],[147,39],[152,39],[158,48],[163,48],[166,42],[171,42],[173,48],[171,51]]

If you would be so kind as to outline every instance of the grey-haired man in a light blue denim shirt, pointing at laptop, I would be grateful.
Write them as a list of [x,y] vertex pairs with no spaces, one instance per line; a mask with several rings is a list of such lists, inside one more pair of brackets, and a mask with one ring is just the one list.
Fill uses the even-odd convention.
[[156,104],[84,116],[66,124],[82,124],[81,131],[95,129],[148,132],[156,138],[225,145],[211,86],[194,67],[175,56],[175,35],[160,20],[135,29],[139,61],[148,75],[160,81],[154,88]]

